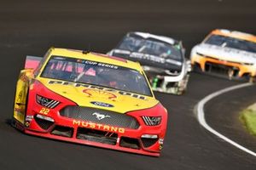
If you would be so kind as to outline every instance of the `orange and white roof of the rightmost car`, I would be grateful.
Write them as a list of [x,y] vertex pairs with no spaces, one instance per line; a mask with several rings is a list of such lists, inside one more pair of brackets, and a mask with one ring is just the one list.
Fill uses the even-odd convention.
[[248,34],[241,31],[231,31],[227,29],[216,29],[211,32],[211,34],[225,36],[225,37],[235,37],[238,39],[246,40],[249,42],[256,42],[256,37],[253,34]]

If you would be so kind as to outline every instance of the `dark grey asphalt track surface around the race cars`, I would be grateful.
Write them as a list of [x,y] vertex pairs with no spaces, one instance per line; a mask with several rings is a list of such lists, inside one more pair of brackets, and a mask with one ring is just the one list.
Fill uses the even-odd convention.
[[[236,85],[192,74],[183,96],[156,93],[169,111],[159,158],[33,137],[9,126],[15,81],[26,54],[51,47],[106,53],[127,31],[183,39],[189,49],[214,28],[256,32],[256,2],[249,0],[0,2],[0,169],[255,169],[256,158],[208,133],[196,120],[197,102]],[[230,92],[206,105],[209,125],[256,151],[256,139],[237,120],[256,99],[255,86]]]

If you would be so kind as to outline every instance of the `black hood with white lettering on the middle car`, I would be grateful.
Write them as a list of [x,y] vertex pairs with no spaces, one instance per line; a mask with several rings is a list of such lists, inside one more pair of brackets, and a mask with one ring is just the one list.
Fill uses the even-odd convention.
[[154,66],[166,70],[181,71],[182,61],[177,61],[169,57],[160,57],[152,54],[144,54],[131,52],[123,49],[113,49],[110,53],[113,56],[130,59],[132,61],[138,61],[141,65]]

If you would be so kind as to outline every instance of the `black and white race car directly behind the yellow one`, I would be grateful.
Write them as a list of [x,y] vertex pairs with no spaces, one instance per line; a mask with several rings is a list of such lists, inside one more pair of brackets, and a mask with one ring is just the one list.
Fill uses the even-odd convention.
[[183,94],[191,66],[184,57],[182,42],[145,32],[129,32],[108,54],[143,65],[154,91]]

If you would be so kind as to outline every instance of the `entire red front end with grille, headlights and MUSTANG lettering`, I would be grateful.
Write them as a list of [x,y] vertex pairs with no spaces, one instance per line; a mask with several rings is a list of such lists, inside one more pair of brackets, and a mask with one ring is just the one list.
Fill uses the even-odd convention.
[[[14,122],[21,131],[49,139],[160,156],[167,126],[167,112],[162,105],[120,114],[106,108],[79,106],[38,81],[32,87],[26,101],[24,124]],[[50,98],[48,103],[42,103],[40,99],[47,96]],[[82,110],[71,110],[71,107]],[[157,126],[147,126],[144,116],[161,116],[161,122]]]

